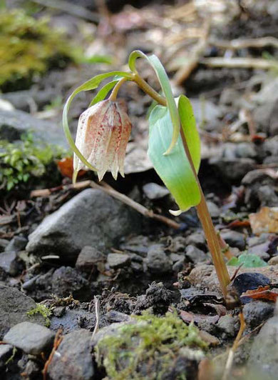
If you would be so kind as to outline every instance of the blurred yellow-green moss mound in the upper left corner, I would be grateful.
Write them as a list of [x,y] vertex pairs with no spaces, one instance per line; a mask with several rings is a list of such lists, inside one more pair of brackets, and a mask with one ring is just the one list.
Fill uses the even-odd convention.
[[34,19],[20,9],[0,12],[1,90],[27,88],[34,75],[74,61],[76,49],[46,18]]

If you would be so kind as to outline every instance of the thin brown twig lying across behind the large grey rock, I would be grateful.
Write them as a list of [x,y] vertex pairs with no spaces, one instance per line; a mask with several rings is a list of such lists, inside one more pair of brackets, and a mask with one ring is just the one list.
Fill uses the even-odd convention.
[[[65,186],[59,186],[59,189],[68,190],[68,189],[86,189],[86,187],[92,187],[93,189],[102,190],[105,193],[109,194],[110,196],[113,196],[113,198],[118,199],[119,201],[123,202],[124,204],[127,204],[128,206],[132,207],[136,211],[138,211],[143,216],[147,216],[148,218],[155,219],[158,221],[161,221],[168,226],[172,227],[173,229],[179,229],[180,224],[178,224],[176,221],[173,221],[170,218],[167,218],[167,216],[158,215],[155,214],[152,210],[147,209],[142,204],[139,204],[138,202],[133,201],[133,199],[128,198],[125,194],[121,194],[112,187],[108,186],[107,184],[103,184],[103,186],[96,184],[96,182],[93,181],[81,181],[77,182],[75,185],[65,185]],[[57,188],[54,189],[41,189],[41,190],[34,190],[31,191],[30,196],[31,197],[37,197],[37,196],[49,196],[51,193],[56,191]]]

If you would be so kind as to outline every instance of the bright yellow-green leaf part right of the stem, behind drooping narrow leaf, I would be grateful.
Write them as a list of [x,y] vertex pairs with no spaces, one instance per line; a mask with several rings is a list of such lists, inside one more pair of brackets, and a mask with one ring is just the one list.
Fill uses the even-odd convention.
[[199,132],[196,127],[194,112],[190,104],[190,100],[185,95],[181,95],[178,98],[177,104],[182,130],[185,134],[190,156],[197,173],[199,171],[201,162],[201,141]]

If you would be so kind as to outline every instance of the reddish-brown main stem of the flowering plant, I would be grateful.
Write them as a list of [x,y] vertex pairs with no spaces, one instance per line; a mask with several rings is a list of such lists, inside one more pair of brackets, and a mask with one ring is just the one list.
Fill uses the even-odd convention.
[[[163,96],[160,96],[158,92],[156,92],[149,84],[144,81],[138,74],[135,74],[133,77],[133,81],[142,89],[146,94],[150,95],[155,101],[157,101],[162,106],[167,106],[167,101]],[[195,175],[195,179],[200,189],[201,201],[200,204],[196,206],[197,214],[199,216],[200,222],[202,224],[202,228],[205,233],[205,237],[207,239],[207,245],[210,249],[210,253],[212,255],[212,261],[215,266],[215,271],[220,282],[220,287],[224,296],[227,295],[227,285],[230,284],[230,276],[227,271],[227,266],[224,261],[224,257],[222,255],[219,238],[217,236],[217,232],[215,231],[215,226],[212,223],[212,219],[210,216],[210,212],[207,208],[207,202],[205,201],[205,195],[202,191],[202,187],[200,185],[200,181],[198,179],[197,173],[195,171],[195,167],[192,162],[192,158],[190,155],[190,151],[187,146],[187,142],[185,139],[185,134],[180,128],[180,136],[182,138],[182,145],[185,149],[185,154],[187,156],[188,161],[190,162],[191,169],[193,174]]]

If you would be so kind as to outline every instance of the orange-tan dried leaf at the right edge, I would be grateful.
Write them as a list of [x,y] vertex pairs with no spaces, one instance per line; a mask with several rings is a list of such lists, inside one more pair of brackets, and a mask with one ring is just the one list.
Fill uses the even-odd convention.
[[260,235],[264,232],[278,233],[278,207],[262,207],[259,212],[249,214],[249,221],[253,234]]

